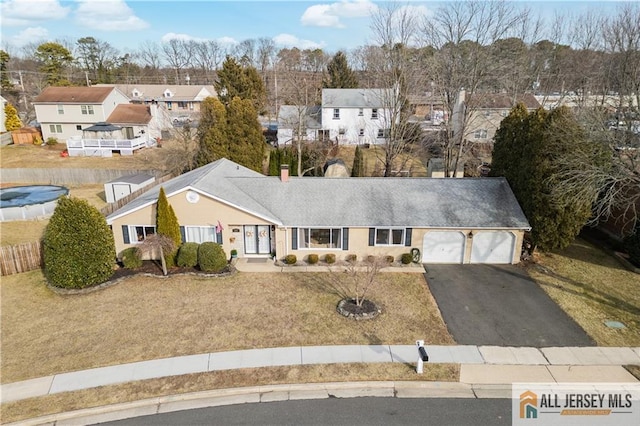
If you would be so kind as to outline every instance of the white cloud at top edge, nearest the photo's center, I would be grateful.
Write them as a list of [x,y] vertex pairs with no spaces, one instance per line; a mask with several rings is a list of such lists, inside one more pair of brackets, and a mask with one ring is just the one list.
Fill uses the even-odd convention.
[[363,18],[377,10],[370,0],[342,0],[331,4],[316,4],[307,8],[300,18],[302,25],[310,27],[344,28],[340,18]]

